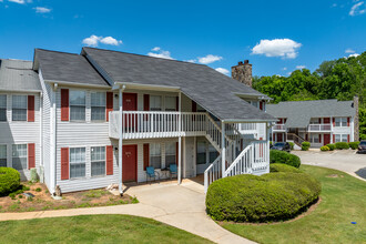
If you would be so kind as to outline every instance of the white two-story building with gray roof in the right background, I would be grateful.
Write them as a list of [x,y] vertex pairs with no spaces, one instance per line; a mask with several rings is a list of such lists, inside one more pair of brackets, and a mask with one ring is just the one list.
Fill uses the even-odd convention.
[[272,128],[274,142],[308,141],[312,148],[358,141],[358,98],[354,101],[316,100],[267,104],[278,121]]

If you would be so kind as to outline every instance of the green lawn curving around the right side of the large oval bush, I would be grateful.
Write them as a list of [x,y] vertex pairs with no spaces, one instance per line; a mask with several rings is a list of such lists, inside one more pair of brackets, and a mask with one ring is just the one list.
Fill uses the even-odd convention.
[[[258,243],[366,243],[366,182],[336,170],[301,170],[322,182],[322,202],[315,211],[288,223],[223,226]],[[327,177],[332,174],[338,177]]]

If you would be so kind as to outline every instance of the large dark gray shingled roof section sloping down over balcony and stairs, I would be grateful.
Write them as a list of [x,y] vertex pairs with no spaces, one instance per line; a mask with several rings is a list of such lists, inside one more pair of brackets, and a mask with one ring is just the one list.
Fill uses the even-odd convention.
[[221,120],[274,119],[234,93],[266,95],[206,65],[93,48],[83,48],[82,54],[96,62],[113,82],[177,87]]

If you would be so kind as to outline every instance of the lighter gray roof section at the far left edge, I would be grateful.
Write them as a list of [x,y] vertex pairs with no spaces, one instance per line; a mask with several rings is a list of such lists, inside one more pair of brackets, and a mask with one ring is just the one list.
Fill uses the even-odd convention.
[[38,73],[32,70],[32,61],[0,60],[0,90],[42,91]]

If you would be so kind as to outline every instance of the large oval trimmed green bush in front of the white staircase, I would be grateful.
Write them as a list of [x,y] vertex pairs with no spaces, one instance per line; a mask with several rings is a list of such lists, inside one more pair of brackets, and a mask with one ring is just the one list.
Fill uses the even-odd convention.
[[206,211],[216,221],[284,221],[306,210],[318,199],[321,190],[316,179],[301,172],[242,174],[210,185]]

